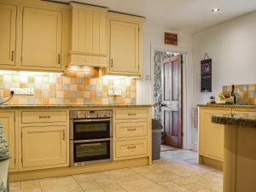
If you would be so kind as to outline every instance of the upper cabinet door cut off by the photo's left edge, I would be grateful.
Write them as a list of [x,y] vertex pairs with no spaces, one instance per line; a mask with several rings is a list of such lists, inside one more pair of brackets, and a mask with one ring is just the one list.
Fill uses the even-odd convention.
[[0,3],[0,65],[15,65],[16,6]]

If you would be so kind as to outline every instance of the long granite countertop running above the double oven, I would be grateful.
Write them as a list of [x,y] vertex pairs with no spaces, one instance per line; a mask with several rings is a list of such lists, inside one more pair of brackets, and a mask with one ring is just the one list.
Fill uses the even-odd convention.
[[15,108],[148,108],[151,104],[98,104],[98,105],[0,105],[0,109]]

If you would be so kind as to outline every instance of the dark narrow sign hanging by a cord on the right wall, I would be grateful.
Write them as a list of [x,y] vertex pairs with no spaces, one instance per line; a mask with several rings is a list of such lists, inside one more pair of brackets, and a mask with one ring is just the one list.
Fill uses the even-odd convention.
[[212,59],[201,61],[201,92],[212,92]]

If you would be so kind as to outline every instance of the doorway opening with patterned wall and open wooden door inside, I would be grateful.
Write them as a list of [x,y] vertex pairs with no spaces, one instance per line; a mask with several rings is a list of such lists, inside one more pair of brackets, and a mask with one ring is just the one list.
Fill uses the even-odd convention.
[[160,120],[162,150],[183,147],[183,54],[154,52],[154,117]]

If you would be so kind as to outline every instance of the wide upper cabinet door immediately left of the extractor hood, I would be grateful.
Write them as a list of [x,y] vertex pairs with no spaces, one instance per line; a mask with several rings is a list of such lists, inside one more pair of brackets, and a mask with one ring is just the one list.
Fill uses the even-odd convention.
[[61,67],[62,13],[23,9],[22,61],[25,67]]

